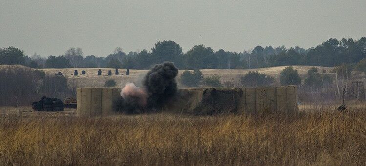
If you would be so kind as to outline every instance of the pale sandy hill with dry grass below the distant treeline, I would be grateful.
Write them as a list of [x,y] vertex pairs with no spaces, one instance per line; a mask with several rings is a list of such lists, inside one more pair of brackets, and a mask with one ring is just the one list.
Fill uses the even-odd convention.
[[[5,65],[0,65],[5,66]],[[20,65],[13,65],[14,67],[22,67]],[[275,78],[276,84],[280,83],[279,76],[280,72],[287,66],[276,66],[268,68],[258,68],[258,69],[202,69],[203,75],[211,76],[218,74],[221,76],[221,82],[232,81],[238,83],[240,76],[248,73],[249,71],[258,71],[259,73],[268,74]],[[325,69],[329,73],[333,68],[330,67],[320,67],[320,66],[294,66],[298,70],[301,78],[305,79],[307,71],[312,68],[317,67],[319,71]],[[98,69],[102,70],[102,76],[98,76]],[[41,69],[45,71],[46,74],[53,75],[57,72],[63,73],[70,81],[70,84],[77,85],[78,87],[102,87],[107,79],[114,79],[119,87],[123,87],[128,82],[134,82],[139,85],[144,75],[148,70],[129,70],[129,75],[125,75],[126,69],[119,69],[119,75],[115,75],[115,69],[111,68],[66,68],[66,69]],[[74,76],[74,70],[78,70],[79,75]],[[81,71],[85,70],[86,75],[80,75]],[[107,76],[108,71],[112,71],[112,76]],[[178,79],[180,74],[184,70],[179,70]]]

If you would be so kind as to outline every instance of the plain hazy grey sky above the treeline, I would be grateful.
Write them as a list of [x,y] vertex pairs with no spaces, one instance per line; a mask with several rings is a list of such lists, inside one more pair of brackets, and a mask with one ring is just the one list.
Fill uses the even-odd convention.
[[0,0],[0,47],[27,55],[147,49],[173,40],[242,52],[366,36],[366,0]]

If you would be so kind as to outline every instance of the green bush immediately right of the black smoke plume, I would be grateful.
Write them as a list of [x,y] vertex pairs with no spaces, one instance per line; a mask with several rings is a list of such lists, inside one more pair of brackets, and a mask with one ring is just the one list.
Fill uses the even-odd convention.
[[184,71],[181,76],[181,83],[187,87],[198,87],[202,84],[202,72],[199,69],[190,72],[188,70]]

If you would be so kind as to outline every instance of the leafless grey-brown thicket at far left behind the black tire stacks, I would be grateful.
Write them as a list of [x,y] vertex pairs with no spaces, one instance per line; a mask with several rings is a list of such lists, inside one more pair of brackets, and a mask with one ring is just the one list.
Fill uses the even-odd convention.
[[42,70],[18,66],[0,69],[0,106],[29,105],[43,95],[60,99],[75,97],[76,86],[70,87],[62,75],[46,75]]

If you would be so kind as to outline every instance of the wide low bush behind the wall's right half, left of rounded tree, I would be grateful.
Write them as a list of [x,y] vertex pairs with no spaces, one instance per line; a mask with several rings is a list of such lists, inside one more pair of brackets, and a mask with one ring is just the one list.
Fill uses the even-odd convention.
[[243,87],[260,87],[271,85],[274,79],[266,74],[249,71],[240,78],[240,82]]

